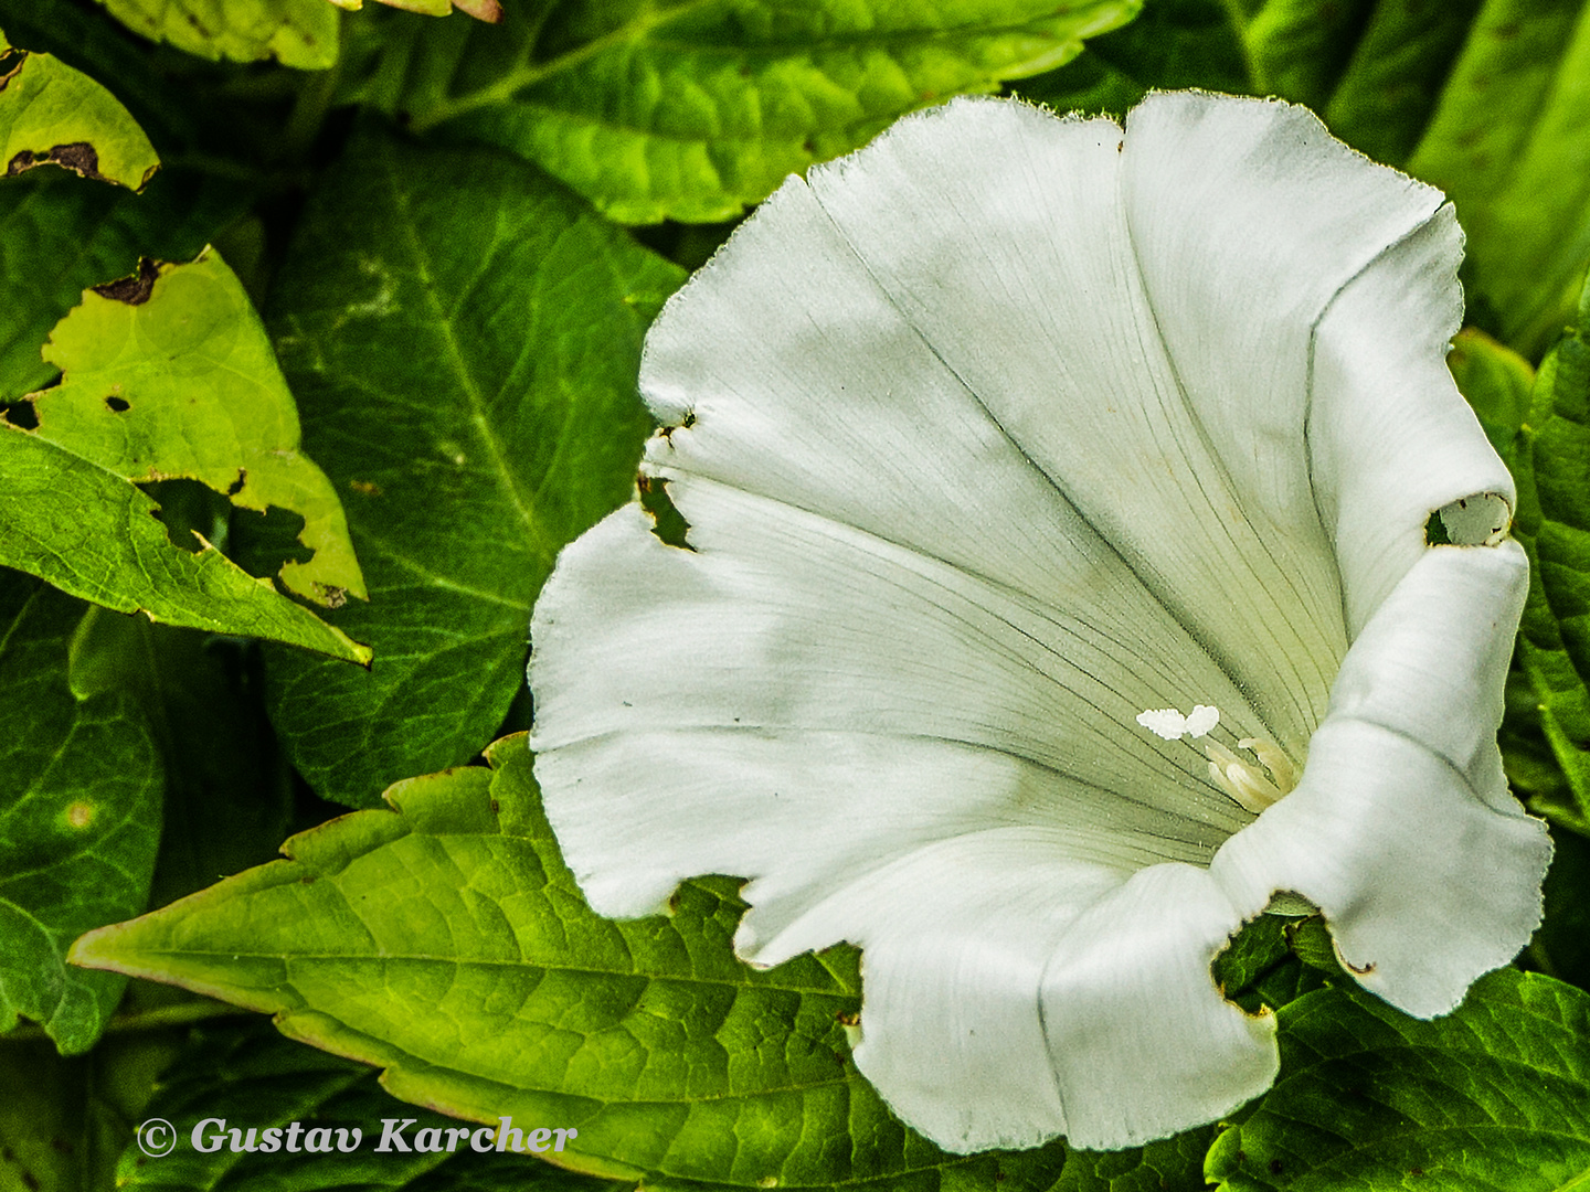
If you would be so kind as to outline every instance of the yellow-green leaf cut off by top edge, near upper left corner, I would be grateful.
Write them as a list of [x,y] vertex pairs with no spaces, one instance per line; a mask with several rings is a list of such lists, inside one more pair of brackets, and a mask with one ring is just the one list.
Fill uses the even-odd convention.
[[337,10],[326,0],[100,0],[151,41],[234,62],[273,57],[285,67],[337,64]]

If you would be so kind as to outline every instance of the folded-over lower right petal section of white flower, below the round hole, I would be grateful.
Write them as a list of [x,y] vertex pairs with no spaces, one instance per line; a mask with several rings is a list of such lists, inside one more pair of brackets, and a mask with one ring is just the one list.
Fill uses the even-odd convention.
[[1239,906],[1309,898],[1359,982],[1410,1014],[1450,1011],[1541,922],[1550,839],[1495,736],[1526,585],[1514,542],[1425,551],[1353,644],[1297,790],[1212,866]]

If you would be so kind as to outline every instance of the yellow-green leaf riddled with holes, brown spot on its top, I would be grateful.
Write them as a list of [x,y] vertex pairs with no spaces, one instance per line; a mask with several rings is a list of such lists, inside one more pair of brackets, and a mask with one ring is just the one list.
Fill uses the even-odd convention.
[[240,509],[299,513],[307,563],[289,591],[328,607],[364,599],[342,504],[299,451],[297,408],[270,340],[215,250],[84,292],[45,346],[65,375],[30,397],[35,434],[135,483],[184,477]]

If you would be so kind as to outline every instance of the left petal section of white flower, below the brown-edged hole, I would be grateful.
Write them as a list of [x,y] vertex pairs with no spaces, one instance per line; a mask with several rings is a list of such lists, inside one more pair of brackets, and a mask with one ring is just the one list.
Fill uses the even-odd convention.
[[[1164,831],[1189,841],[1248,822],[1199,750],[1132,728],[1140,709],[1196,690],[1232,736],[1261,733],[1162,610],[1135,634],[1100,629],[716,482],[669,491],[696,551],[665,547],[628,507],[564,551],[537,601],[537,752],[661,726],[927,736],[1173,806]],[[549,806],[560,798],[549,788]]]

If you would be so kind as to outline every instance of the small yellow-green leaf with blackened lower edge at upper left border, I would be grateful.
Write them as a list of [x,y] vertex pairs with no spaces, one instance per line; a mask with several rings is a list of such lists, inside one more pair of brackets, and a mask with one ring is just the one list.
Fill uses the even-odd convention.
[[[0,60],[11,49],[0,33]],[[0,161],[6,175],[52,164],[134,191],[161,167],[114,95],[65,62],[27,51],[0,73]]]

